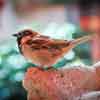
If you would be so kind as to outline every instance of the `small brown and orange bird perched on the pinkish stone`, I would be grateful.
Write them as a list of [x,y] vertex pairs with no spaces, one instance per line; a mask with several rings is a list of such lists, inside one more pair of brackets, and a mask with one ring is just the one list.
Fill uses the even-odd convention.
[[24,29],[13,36],[17,37],[20,53],[40,69],[52,69],[52,65],[71,49],[92,39],[91,34],[69,41],[53,39],[31,29]]

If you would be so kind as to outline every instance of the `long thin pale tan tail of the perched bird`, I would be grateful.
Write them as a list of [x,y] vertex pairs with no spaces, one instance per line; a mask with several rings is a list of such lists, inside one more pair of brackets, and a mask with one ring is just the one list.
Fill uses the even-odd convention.
[[77,46],[78,44],[81,44],[81,43],[84,43],[84,42],[87,42],[87,41],[91,40],[92,37],[93,37],[93,34],[83,36],[83,37],[80,37],[78,39],[72,40],[71,43],[72,43],[73,46]]

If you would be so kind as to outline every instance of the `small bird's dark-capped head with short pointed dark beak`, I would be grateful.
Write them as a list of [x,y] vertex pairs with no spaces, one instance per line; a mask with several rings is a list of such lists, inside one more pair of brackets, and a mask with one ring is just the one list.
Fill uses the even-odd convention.
[[26,29],[26,30],[20,31],[16,34],[13,34],[13,36],[17,37],[17,41],[20,44],[20,43],[25,43],[27,40],[33,38],[37,34],[38,34],[37,32]]

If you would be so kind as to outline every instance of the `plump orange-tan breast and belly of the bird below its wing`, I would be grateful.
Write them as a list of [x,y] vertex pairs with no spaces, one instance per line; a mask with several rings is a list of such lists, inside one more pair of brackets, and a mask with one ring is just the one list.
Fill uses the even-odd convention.
[[22,47],[25,58],[31,60],[36,65],[51,66],[61,57],[62,52],[57,49],[31,49],[28,45]]

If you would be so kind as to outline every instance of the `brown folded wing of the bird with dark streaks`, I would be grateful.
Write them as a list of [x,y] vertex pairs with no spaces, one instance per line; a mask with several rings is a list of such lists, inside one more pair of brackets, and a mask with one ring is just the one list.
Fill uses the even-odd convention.
[[67,40],[60,40],[60,39],[51,39],[47,36],[39,36],[36,38],[33,38],[27,43],[30,45],[31,48],[48,48],[48,49],[61,49],[67,45],[69,45],[69,42]]

